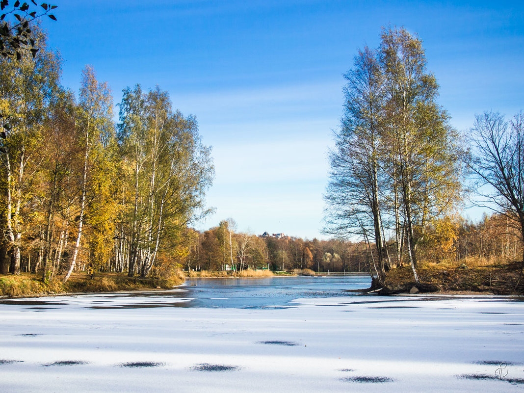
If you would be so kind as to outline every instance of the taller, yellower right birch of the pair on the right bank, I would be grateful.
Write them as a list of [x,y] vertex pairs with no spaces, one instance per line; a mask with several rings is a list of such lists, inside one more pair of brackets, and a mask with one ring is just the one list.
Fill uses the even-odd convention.
[[[408,257],[415,281],[417,243],[428,220],[460,199],[460,142],[449,116],[436,103],[438,84],[426,70],[422,41],[405,29],[384,29],[385,134],[398,185]],[[416,230],[419,233],[416,233]]]

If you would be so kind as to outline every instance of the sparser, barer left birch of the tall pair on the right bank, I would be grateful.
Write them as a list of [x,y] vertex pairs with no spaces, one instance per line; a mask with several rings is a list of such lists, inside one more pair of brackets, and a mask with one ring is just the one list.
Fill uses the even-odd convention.
[[370,231],[377,249],[377,278],[383,282],[386,250],[379,184],[384,177],[384,95],[376,53],[368,47],[359,50],[353,69],[344,77],[344,116],[340,131],[335,133],[336,149],[330,154],[331,179],[325,196],[330,218],[325,232],[347,237]]

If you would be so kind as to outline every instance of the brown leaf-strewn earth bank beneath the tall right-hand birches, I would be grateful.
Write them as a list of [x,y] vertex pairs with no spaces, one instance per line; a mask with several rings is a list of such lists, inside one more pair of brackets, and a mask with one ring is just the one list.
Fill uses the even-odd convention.
[[[457,292],[517,295],[524,294],[524,280],[518,288],[520,261],[486,266],[450,266],[428,264],[417,269],[419,280],[437,292]],[[409,292],[416,283],[410,266],[391,269],[386,277],[387,291],[391,293]],[[421,292],[424,292],[421,290]]]

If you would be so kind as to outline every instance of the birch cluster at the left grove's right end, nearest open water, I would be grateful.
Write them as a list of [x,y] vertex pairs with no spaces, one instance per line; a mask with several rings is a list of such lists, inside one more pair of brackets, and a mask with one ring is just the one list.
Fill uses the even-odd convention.
[[168,239],[206,215],[211,184],[210,149],[201,143],[196,120],[173,112],[169,94],[158,87],[124,90],[119,104],[118,141],[129,176],[123,236],[129,239],[128,275],[145,277]]

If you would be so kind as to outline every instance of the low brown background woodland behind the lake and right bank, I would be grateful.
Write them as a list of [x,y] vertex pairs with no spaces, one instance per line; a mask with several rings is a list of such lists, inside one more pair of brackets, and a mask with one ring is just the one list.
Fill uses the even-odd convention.
[[[269,269],[375,274],[372,255],[377,246],[365,240],[263,237],[236,230],[232,219],[207,231],[192,230],[190,252],[181,260],[184,270]],[[386,247],[394,247],[388,238]],[[420,259],[431,263],[470,264],[515,260],[522,252],[518,231],[501,214],[485,215],[479,222],[454,214],[432,220],[418,243]],[[399,266],[407,263],[401,260]]]

